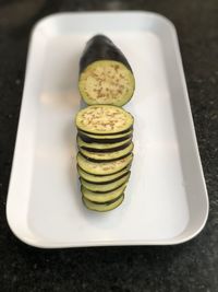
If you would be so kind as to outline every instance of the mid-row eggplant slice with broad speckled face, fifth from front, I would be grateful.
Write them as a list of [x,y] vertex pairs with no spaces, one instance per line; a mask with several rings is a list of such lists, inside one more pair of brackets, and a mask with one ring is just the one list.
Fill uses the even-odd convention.
[[92,162],[85,159],[80,152],[77,153],[77,164],[78,166],[94,175],[109,175],[114,174],[126,167],[133,160],[133,154],[129,154],[124,159],[111,161],[111,162]]

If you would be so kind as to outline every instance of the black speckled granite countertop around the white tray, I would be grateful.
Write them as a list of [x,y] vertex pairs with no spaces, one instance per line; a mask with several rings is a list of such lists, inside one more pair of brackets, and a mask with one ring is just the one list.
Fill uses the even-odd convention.
[[[178,246],[45,250],[11,233],[5,201],[26,52],[34,23],[50,13],[145,10],[169,17],[179,34],[210,212],[203,232]],[[0,1],[0,291],[218,291],[217,0]]]

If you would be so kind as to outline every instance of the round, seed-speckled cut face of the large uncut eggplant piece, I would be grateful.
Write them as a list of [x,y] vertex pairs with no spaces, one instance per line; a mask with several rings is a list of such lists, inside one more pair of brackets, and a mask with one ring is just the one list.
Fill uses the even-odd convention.
[[81,74],[78,89],[88,105],[126,104],[134,92],[134,78],[118,61],[99,60],[89,65]]

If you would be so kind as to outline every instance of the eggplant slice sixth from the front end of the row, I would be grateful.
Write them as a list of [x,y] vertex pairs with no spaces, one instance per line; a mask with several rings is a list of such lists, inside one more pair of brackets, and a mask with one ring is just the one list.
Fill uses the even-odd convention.
[[84,150],[82,148],[78,148],[78,150],[87,159],[97,160],[97,161],[110,161],[110,160],[124,157],[125,155],[130,154],[130,152],[132,152],[132,150],[133,150],[133,142],[122,150],[109,152],[109,153],[90,152],[90,151]]

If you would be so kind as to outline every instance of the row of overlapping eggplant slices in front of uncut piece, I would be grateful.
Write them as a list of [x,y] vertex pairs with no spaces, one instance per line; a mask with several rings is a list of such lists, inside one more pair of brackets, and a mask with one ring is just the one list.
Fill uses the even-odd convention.
[[124,198],[133,159],[133,117],[123,108],[93,105],[78,112],[77,172],[85,206],[109,211]]

